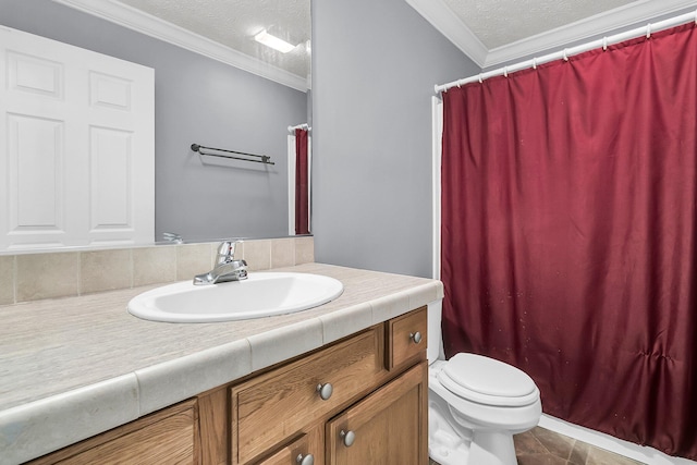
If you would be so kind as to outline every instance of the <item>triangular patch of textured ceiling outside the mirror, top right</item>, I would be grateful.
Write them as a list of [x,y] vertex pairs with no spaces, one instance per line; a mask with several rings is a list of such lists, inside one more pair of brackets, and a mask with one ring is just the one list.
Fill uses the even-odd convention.
[[636,0],[443,1],[489,50],[636,2]]

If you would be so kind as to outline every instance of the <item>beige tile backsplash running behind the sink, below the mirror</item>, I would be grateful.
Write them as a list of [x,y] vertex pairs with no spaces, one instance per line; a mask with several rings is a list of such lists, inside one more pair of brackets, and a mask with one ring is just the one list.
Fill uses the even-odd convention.
[[[245,241],[249,270],[314,261],[311,236]],[[210,270],[218,243],[0,255],[0,306],[185,281]]]

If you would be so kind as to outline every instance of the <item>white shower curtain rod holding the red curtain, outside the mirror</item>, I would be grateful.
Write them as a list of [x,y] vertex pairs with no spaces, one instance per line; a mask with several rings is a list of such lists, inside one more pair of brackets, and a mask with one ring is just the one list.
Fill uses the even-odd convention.
[[440,95],[440,93],[448,91],[448,89],[452,87],[455,87],[455,86],[460,87],[464,84],[475,83],[477,81],[481,83],[484,79],[488,79],[489,77],[493,77],[493,76],[503,75],[508,77],[510,73],[514,73],[521,70],[526,70],[528,68],[537,68],[538,64],[548,63],[550,61],[554,61],[559,59],[568,60],[568,57],[571,56],[583,53],[585,51],[592,50],[596,48],[602,47],[603,49],[607,50],[609,45],[619,44],[621,41],[633,39],[643,35],[646,35],[646,37],[648,38],[651,36],[651,33],[668,29],[670,27],[677,26],[680,24],[689,23],[693,21],[697,24],[697,11],[694,13],[686,13],[686,14],[681,14],[680,16],[670,17],[668,20],[660,21],[658,23],[652,23],[652,24],[649,23],[646,26],[637,27],[632,30],[615,34],[612,36],[607,36],[607,37],[603,37],[602,39],[594,40],[591,42],[583,44],[576,47],[565,48],[562,51],[549,53],[542,57],[536,57],[531,60],[522,61],[519,63],[515,63],[510,66],[503,66],[497,70],[487,71],[486,73],[480,73],[475,76],[465,77],[464,79],[453,81],[452,83],[442,84],[442,85],[436,85],[435,86],[436,94]]

